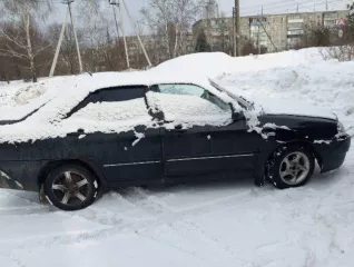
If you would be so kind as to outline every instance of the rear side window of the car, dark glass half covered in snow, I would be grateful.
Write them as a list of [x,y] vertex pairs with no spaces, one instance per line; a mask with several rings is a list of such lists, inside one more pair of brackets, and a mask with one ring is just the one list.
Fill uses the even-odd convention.
[[101,89],[89,95],[70,115],[94,122],[149,120],[144,87]]

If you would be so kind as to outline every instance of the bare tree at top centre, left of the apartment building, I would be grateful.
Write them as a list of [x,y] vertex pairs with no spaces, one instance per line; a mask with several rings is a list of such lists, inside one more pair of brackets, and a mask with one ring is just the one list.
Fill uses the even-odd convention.
[[140,10],[142,21],[154,33],[159,51],[166,59],[185,51],[188,31],[198,19],[204,7],[203,0],[149,0]]

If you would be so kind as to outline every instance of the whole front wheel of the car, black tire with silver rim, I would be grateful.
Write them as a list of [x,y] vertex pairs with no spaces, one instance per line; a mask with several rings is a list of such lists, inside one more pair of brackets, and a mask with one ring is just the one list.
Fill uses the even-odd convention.
[[301,187],[315,169],[314,155],[302,145],[278,148],[266,164],[266,178],[278,189]]

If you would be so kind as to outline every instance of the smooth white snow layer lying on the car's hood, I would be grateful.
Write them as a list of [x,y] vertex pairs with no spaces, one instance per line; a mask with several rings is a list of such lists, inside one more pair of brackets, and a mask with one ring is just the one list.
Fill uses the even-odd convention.
[[253,100],[267,115],[289,115],[337,120],[336,115],[331,110],[308,102],[276,98],[256,98]]

